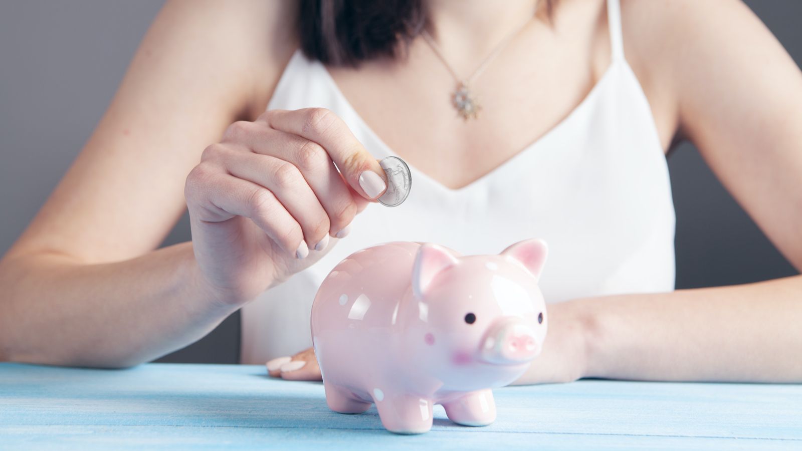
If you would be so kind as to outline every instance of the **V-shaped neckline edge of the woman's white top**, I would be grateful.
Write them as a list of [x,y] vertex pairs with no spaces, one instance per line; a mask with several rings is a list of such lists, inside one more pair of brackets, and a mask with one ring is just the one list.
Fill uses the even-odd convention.
[[[306,57],[303,57],[306,59]],[[574,107],[565,117],[557,122],[552,128],[549,128],[545,133],[535,139],[532,143],[526,145],[524,148],[520,149],[520,151],[514,153],[510,156],[507,160],[504,160],[497,165],[495,168],[490,169],[487,173],[482,174],[479,178],[468,183],[468,185],[461,186],[460,188],[451,188],[444,185],[442,182],[436,180],[434,177],[429,176],[427,173],[424,173],[422,170],[416,168],[414,165],[410,165],[407,160],[404,159],[403,156],[395,153],[393,149],[384,142],[384,140],[371,128],[367,122],[363,119],[362,115],[356,111],[356,108],[350,103],[348,98],[345,94],[342,93],[340,87],[337,85],[337,82],[334,81],[334,77],[331,76],[326,66],[323,65],[318,60],[309,60],[306,61],[312,63],[314,67],[317,67],[318,70],[322,73],[323,78],[326,79],[326,83],[329,83],[330,88],[334,91],[334,95],[337,96],[338,100],[342,104],[344,108],[348,110],[350,116],[354,117],[354,120],[358,122],[358,126],[363,128],[368,136],[371,137],[372,140],[375,140],[376,143],[382,148],[383,153],[386,156],[396,156],[407,163],[409,167],[413,180],[415,178],[421,178],[423,180],[428,181],[431,185],[434,185],[437,189],[449,193],[451,195],[456,195],[460,193],[466,193],[471,191],[472,189],[476,189],[481,185],[488,183],[492,179],[492,177],[496,177],[500,173],[504,173],[509,169],[513,168],[516,163],[520,163],[521,160],[524,160],[529,155],[536,153],[537,148],[540,148],[542,143],[545,140],[552,139],[554,135],[561,132],[563,128],[566,128],[568,124],[573,122],[574,118],[579,116],[580,112],[583,112],[585,109],[589,108],[591,101],[598,95],[598,92],[602,90],[602,87],[608,83],[608,80],[612,78],[614,70],[618,67],[619,63],[622,63],[619,59],[613,59],[610,61],[610,64],[607,66],[606,70],[602,74],[602,76],[596,80],[596,83],[593,84],[593,87],[590,88],[590,91],[585,95],[585,97],[581,100],[576,107]],[[498,176],[500,177],[500,176]]]

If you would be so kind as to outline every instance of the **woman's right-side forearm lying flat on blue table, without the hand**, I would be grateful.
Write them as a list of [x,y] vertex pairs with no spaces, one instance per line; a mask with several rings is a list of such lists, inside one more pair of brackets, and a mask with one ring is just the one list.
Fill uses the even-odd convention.
[[586,377],[802,382],[802,276],[575,302]]

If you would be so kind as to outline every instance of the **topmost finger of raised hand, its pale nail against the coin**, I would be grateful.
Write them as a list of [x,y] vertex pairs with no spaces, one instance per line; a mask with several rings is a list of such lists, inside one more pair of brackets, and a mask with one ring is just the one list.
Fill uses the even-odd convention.
[[271,128],[320,144],[348,185],[367,199],[373,200],[387,189],[386,176],[379,162],[333,112],[325,108],[270,110],[261,119]]

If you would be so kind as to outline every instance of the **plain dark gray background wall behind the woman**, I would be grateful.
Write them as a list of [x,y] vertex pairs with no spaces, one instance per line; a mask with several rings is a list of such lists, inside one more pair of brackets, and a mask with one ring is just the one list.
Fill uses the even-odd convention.
[[[43,204],[107,108],[158,0],[0,0],[0,254]],[[799,65],[802,2],[751,0]],[[797,274],[691,144],[669,157],[677,288]],[[184,217],[165,244],[189,239]],[[162,361],[235,363],[239,316]]]

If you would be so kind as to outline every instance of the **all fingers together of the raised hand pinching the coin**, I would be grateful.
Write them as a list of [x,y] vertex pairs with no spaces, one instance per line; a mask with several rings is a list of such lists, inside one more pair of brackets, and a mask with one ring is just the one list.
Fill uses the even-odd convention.
[[249,217],[287,253],[304,258],[310,249],[325,250],[330,236],[344,237],[365,197],[385,190],[379,163],[346,124],[307,108],[231,124],[221,143],[204,151],[186,193],[188,204],[196,200],[196,216]]

